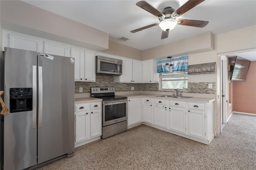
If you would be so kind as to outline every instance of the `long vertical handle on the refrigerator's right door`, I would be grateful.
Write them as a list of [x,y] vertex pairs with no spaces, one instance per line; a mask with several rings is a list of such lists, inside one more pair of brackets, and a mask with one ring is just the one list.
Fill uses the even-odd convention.
[[42,127],[43,114],[43,71],[42,66],[38,66],[38,128]]

